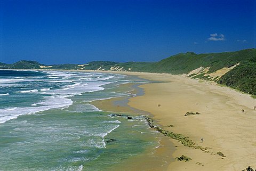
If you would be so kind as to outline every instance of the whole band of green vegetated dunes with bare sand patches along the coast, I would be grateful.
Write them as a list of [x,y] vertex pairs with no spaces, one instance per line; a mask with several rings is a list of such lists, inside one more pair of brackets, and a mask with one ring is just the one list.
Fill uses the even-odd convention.
[[0,69],[110,70],[186,74],[256,95],[256,50],[254,48],[222,53],[179,53],[158,62],[92,61],[86,64],[45,65],[22,60],[0,63]]

